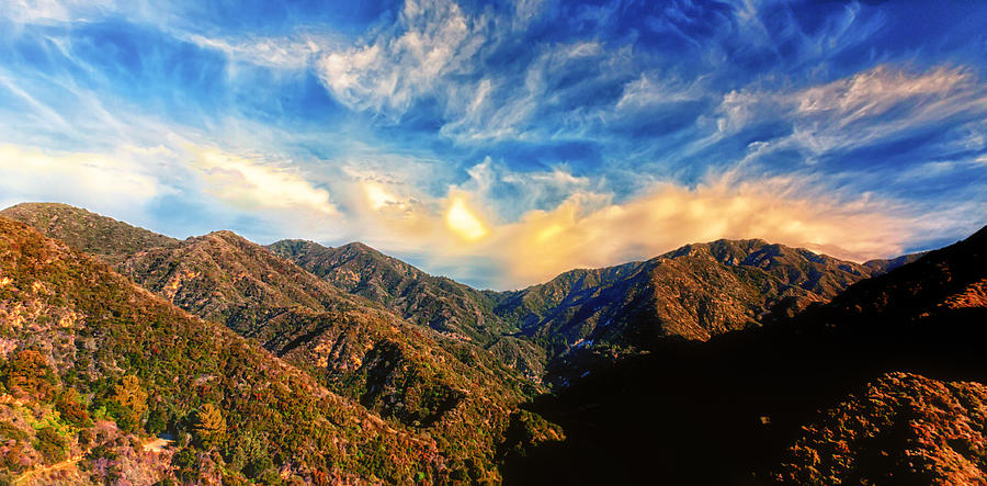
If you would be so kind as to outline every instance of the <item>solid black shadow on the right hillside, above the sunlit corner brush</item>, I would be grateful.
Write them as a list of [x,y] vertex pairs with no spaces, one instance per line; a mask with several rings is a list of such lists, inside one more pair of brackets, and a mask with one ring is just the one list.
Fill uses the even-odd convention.
[[667,341],[527,405],[568,439],[509,457],[508,484],[761,484],[802,425],[886,372],[987,381],[987,309]]

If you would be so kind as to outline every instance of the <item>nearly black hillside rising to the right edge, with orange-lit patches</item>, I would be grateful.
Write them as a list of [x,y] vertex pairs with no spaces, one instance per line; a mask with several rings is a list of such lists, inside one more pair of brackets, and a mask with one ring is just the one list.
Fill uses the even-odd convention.
[[[935,474],[969,473],[969,464],[982,467],[984,452],[976,444],[984,415],[973,402],[963,402],[966,392],[950,392],[954,397],[949,398],[939,385],[920,378],[916,383],[901,378],[904,385],[892,386],[888,380],[897,375],[885,374],[916,373],[941,382],[987,380],[983,353],[987,308],[975,298],[978,282],[987,278],[984,233],[854,284],[831,304],[792,321],[706,342],[663,339],[647,354],[604,363],[574,378],[569,387],[531,404],[532,410],[561,425],[568,439],[509,461],[506,483],[661,477],[669,484],[771,484],[785,478],[799,484],[816,474],[844,474],[837,471],[839,464],[825,459],[830,454],[843,454],[841,464],[866,464],[887,457],[882,451],[888,456],[926,451],[924,462],[915,464]],[[965,304],[951,304],[956,302]],[[865,396],[869,386],[911,397],[903,398],[901,405],[919,405],[900,415],[895,415],[898,409],[888,412],[874,432],[881,438],[873,442],[841,442],[836,422],[846,423],[851,433],[856,423],[870,423],[873,417],[853,398],[840,403],[851,394]],[[916,411],[927,409],[921,405],[926,400],[942,412]],[[957,400],[962,408],[950,405]],[[831,415],[821,411],[827,409],[838,410],[838,417],[846,411],[846,417],[829,419]],[[967,416],[969,434],[954,427]],[[912,443],[907,427],[918,418],[927,420],[921,430],[931,434],[920,438],[949,441],[934,447]],[[820,428],[832,433],[813,432]],[[915,433],[926,433],[921,430]],[[798,447],[817,451],[825,463],[810,452],[793,455]],[[887,471],[895,471],[897,459],[885,461]],[[866,477],[878,477],[874,471],[869,470]],[[929,477],[905,478],[928,484]]]

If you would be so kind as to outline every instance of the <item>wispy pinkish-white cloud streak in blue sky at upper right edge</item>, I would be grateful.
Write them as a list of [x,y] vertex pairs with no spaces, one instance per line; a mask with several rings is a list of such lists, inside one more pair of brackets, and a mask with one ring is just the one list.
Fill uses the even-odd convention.
[[987,112],[987,89],[962,67],[924,72],[880,65],[830,83],[795,91],[730,91],[717,109],[713,139],[752,124],[786,121],[791,139],[775,142],[818,155],[873,144],[909,128]]

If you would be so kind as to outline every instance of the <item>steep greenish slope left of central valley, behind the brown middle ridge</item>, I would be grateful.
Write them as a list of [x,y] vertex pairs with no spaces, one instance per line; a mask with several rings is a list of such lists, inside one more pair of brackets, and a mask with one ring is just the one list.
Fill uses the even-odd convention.
[[366,245],[329,248],[304,240],[268,247],[333,286],[379,303],[410,323],[476,342],[511,369],[540,381],[545,351],[511,334],[514,320],[494,312],[500,294],[432,276]]

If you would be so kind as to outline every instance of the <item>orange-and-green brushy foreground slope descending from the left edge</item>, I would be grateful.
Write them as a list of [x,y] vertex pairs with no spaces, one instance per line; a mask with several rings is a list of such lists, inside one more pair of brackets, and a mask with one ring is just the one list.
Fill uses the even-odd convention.
[[104,467],[107,452],[81,431],[72,437],[72,420],[109,418],[138,436],[174,433],[162,474],[183,482],[408,482],[447,472],[427,436],[386,425],[225,327],[5,218],[0,342],[10,399],[54,394],[57,409],[72,391],[75,405],[35,419],[54,429],[54,445],[42,448],[82,452],[87,471]]

